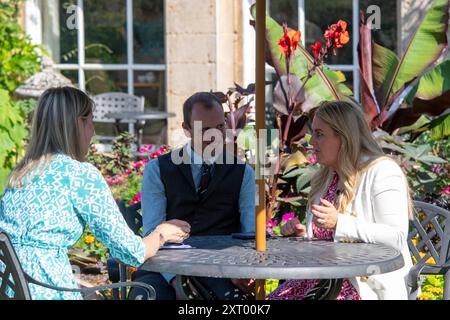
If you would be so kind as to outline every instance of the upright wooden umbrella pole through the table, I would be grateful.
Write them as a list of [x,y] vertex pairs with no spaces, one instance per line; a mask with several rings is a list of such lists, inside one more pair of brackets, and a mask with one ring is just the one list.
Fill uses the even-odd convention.
[[[264,154],[259,148],[264,146],[260,139],[264,139],[262,129],[265,129],[265,94],[266,94],[266,1],[256,1],[256,187],[258,203],[256,204],[256,250],[266,251],[266,203],[264,195],[264,176],[262,174]],[[265,280],[256,281],[256,299],[265,299]]]

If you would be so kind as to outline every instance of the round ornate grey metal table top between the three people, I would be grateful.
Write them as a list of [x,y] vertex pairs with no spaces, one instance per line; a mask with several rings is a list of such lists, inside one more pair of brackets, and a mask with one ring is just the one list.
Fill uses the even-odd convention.
[[266,252],[257,252],[254,240],[231,236],[191,237],[185,244],[193,248],[160,250],[141,269],[221,278],[329,279],[387,273],[404,265],[399,251],[381,244],[271,238]]

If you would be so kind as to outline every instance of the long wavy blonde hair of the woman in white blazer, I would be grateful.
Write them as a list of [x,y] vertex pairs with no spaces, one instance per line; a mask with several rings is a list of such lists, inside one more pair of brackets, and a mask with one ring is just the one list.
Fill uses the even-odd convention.
[[[338,154],[338,170],[341,193],[338,198],[338,211],[345,213],[348,205],[354,199],[358,189],[361,174],[376,163],[390,159],[375,141],[361,111],[361,107],[353,101],[325,101],[317,108],[315,117],[328,124],[341,138],[341,148]],[[363,161],[362,157],[368,159]],[[319,172],[311,180],[311,191],[308,208],[314,199],[321,196],[331,180],[332,169],[321,166]],[[406,181],[406,176],[405,176]],[[413,206],[407,187],[408,211],[412,217]]]

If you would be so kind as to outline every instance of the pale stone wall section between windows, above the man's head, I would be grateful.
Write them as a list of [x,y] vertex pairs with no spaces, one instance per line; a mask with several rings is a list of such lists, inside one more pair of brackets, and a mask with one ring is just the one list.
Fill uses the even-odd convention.
[[[236,4],[238,6],[236,6]],[[239,0],[167,0],[166,65],[168,143],[186,139],[183,102],[197,91],[225,91],[241,82]]]

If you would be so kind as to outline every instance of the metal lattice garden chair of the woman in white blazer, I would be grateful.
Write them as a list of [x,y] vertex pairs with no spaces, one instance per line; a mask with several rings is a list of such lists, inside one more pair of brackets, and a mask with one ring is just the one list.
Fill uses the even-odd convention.
[[[408,247],[416,264],[408,284],[414,292],[420,275],[444,276],[444,300],[450,300],[450,212],[429,203],[414,201],[414,227],[408,234]],[[433,258],[435,263],[429,263]]]

